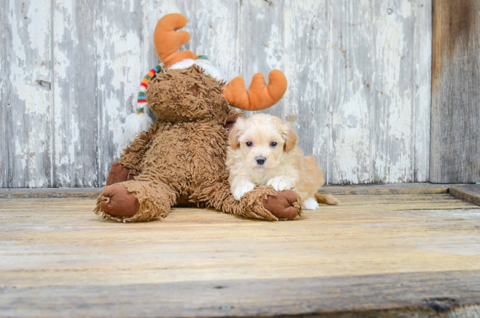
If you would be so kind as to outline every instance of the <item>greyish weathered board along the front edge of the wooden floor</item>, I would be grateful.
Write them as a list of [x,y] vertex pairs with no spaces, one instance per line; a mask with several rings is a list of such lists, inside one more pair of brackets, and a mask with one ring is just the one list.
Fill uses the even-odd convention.
[[[476,318],[480,272],[0,287],[5,317]],[[13,307],[14,303],[18,307]],[[32,310],[35,308],[35,311]],[[33,315],[32,315],[33,313]]]

